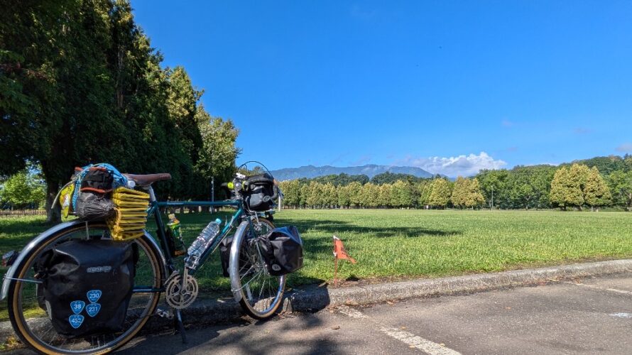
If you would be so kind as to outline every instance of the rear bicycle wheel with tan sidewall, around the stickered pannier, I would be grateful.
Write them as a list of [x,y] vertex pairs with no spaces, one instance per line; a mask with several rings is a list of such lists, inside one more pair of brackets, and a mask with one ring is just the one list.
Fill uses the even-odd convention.
[[[16,278],[33,278],[33,263],[44,251],[52,248],[61,241],[70,239],[109,238],[109,229],[104,222],[75,224],[62,229],[35,246],[23,258],[16,269]],[[165,275],[163,258],[156,244],[149,241],[147,234],[134,240],[138,245],[139,260],[134,278],[143,286],[160,288]],[[144,285],[144,283],[148,283]],[[118,349],[138,333],[148,318],[153,315],[160,293],[133,293],[124,322],[124,329],[114,334],[99,334],[98,336],[83,337],[81,339],[66,339],[55,332],[48,317],[32,317],[33,313],[43,313],[33,302],[37,297],[33,291],[36,283],[13,280],[9,285],[9,318],[11,325],[24,344],[44,354],[105,354]]]

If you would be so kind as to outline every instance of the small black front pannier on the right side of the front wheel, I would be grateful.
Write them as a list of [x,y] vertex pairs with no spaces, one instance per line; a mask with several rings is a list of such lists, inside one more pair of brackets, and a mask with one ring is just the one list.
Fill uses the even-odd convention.
[[303,267],[303,240],[295,226],[273,229],[258,241],[270,275],[285,275]]

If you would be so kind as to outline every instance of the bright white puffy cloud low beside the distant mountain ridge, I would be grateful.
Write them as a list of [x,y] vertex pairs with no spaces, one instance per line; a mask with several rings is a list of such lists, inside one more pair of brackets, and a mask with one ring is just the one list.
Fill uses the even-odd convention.
[[479,155],[469,154],[449,158],[438,156],[430,158],[408,157],[396,163],[416,166],[429,173],[447,175],[451,178],[459,175],[472,176],[481,169],[500,169],[507,165],[505,161],[495,160],[485,152],[481,152]]

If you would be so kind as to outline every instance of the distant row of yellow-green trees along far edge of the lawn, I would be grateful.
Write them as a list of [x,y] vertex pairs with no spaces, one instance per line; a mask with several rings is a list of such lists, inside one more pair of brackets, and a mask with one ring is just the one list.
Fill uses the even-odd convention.
[[632,157],[610,157],[617,158],[628,165],[609,170],[608,175],[599,173],[594,161],[583,160],[560,166],[481,170],[472,178],[454,181],[404,175],[376,183],[390,181],[395,174],[371,180],[365,175],[341,174],[283,181],[280,187],[287,208],[632,209]]

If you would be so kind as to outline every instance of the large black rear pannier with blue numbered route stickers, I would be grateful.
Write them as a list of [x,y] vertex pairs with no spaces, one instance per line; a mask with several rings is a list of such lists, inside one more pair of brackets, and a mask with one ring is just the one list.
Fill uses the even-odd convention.
[[120,332],[134,288],[133,243],[72,240],[43,253],[38,303],[62,336]]

